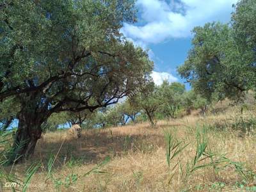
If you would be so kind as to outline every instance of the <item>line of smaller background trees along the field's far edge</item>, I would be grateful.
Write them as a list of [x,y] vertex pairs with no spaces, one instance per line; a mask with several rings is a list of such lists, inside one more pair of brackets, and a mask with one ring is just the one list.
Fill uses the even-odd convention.
[[190,115],[192,110],[199,109],[205,114],[210,103],[196,94],[194,90],[185,90],[184,84],[164,81],[160,86],[148,84],[143,91],[127,97],[118,104],[99,108],[93,113],[56,113],[49,117],[45,131],[56,131],[60,125],[79,124],[83,129],[106,128],[150,122],[154,127],[157,120],[177,118]]

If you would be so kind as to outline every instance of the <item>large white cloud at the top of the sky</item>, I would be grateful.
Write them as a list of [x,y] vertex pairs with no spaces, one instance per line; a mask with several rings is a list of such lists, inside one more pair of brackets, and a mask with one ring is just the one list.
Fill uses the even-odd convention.
[[138,0],[143,26],[124,24],[122,33],[137,44],[158,43],[167,38],[188,37],[195,26],[227,22],[237,0]]

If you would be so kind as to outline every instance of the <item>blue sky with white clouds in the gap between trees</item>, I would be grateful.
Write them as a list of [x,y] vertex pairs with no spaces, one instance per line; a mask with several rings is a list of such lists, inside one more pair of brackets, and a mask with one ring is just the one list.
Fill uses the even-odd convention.
[[[138,0],[138,22],[124,24],[122,33],[135,45],[149,50],[156,84],[179,81],[177,66],[191,48],[191,30],[207,22],[229,22],[237,0]],[[188,86],[187,86],[188,87]]]

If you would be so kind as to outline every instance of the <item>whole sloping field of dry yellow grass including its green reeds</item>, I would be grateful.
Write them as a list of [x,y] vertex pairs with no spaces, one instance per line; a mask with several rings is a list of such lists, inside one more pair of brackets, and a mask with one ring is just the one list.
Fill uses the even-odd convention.
[[79,140],[48,132],[32,159],[4,170],[22,180],[31,163],[40,163],[27,191],[256,191],[251,119],[252,111],[242,118],[230,109],[161,121],[156,128],[84,130]]

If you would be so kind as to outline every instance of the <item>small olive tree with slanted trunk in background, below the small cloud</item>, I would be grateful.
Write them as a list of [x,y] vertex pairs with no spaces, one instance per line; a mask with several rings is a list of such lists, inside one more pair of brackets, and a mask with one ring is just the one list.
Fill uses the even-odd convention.
[[157,119],[175,118],[180,109],[182,109],[183,95],[185,86],[181,83],[169,83],[164,81],[160,86],[148,83],[129,102],[133,111],[147,115],[150,124],[156,126]]

